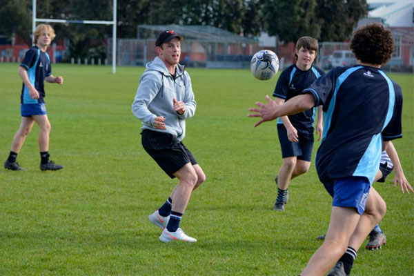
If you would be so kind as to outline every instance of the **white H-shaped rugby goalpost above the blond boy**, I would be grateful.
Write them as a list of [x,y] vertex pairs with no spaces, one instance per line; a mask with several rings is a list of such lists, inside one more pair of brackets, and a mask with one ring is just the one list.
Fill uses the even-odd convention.
[[[66,20],[66,19],[47,19],[36,17],[36,0],[32,0],[32,34],[36,28],[36,22],[55,22],[55,23],[81,23],[81,24],[103,24],[112,25],[112,73],[116,72],[117,64],[117,0],[113,0],[113,16],[112,21],[97,21],[97,20]],[[32,42],[34,37],[32,37]]]

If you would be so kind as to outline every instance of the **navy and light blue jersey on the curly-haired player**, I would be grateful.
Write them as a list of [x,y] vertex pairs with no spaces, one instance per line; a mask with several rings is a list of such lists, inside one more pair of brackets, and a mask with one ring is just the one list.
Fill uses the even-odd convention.
[[366,177],[380,167],[382,140],[402,137],[402,90],[382,70],[338,67],[302,93],[323,105],[324,135],[315,159],[319,179]]

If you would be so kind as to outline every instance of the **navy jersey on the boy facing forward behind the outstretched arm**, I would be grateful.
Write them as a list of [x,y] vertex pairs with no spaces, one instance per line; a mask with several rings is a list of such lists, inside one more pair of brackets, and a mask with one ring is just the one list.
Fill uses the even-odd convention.
[[[273,92],[273,97],[278,97],[288,101],[293,97],[297,96],[305,88],[311,86],[315,79],[323,76],[325,72],[312,66],[311,69],[302,71],[296,67],[296,64],[293,64],[283,70],[280,74],[279,79],[277,80],[275,92]],[[289,121],[295,128],[299,130],[309,129],[309,132],[313,133],[313,122],[315,121],[315,111],[316,108],[300,112],[295,115],[289,115]],[[283,124],[282,121],[277,118],[277,124]]]

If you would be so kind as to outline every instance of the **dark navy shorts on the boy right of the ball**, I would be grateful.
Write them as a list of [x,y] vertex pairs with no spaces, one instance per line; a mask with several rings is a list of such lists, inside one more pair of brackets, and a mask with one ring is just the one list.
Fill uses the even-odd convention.
[[277,135],[279,135],[282,158],[297,157],[299,160],[311,161],[313,150],[313,131],[311,134],[297,130],[299,141],[288,140],[288,131],[283,124],[277,124]]

